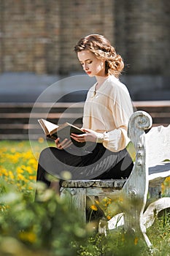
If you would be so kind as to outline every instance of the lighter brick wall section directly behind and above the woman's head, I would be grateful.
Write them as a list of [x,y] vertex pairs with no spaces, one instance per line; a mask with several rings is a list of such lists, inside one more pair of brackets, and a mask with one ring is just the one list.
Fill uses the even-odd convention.
[[[82,70],[74,53],[74,45],[88,34],[114,36],[113,1],[98,0],[61,1],[60,65],[59,72]],[[109,10],[109,13],[108,13]],[[55,48],[58,45],[55,45]]]

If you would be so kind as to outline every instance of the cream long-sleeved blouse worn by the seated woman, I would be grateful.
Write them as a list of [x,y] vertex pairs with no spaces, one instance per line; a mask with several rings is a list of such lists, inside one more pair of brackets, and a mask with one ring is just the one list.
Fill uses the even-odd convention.
[[113,75],[104,81],[96,94],[95,86],[96,83],[88,91],[82,127],[93,129],[110,151],[123,150],[130,141],[127,129],[133,113],[128,89]]

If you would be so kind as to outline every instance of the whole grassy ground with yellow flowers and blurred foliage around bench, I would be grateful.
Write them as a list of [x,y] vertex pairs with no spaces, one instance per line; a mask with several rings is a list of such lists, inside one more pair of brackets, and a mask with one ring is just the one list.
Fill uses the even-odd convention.
[[[92,225],[82,225],[78,214],[50,189],[40,186],[39,202],[34,202],[37,159],[49,145],[54,143],[42,138],[31,143],[0,141],[0,255],[150,255],[138,238],[126,239],[120,230],[107,238],[94,234]],[[163,184],[164,194],[167,187],[169,179]],[[170,256],[169,212],[163,213],[147,234],[153,255]]]

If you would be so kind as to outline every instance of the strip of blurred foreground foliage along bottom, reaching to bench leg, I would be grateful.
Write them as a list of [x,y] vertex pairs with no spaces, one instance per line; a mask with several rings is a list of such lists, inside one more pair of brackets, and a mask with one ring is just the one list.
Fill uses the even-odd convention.
[[83,224],[65,200],[45,184],[37,185],[33,202],[1,179],[1,256],[137,256],[143,252],[144,241],[134,234],[118,229],[107,236],[98,234],[95,223]]

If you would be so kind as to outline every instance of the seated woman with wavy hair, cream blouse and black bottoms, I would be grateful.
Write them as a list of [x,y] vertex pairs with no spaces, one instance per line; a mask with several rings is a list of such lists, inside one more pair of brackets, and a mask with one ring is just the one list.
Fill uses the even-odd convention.
[[[82,68],[96,83],[85,101],[83,135],[72,134],[72,140],[58,138],[56,147],[45,148],[39,157],[37,181],[47,180],[47,173],[70,179],[128,178],[133,162],[126,146],[128,120],[133,113],[128,90],[118,80],[123,59],[103,36],[91,34],[74,47]],[[77,148],[72,141],[85,143]],[[84,145],[84,144],[82,144]]]

